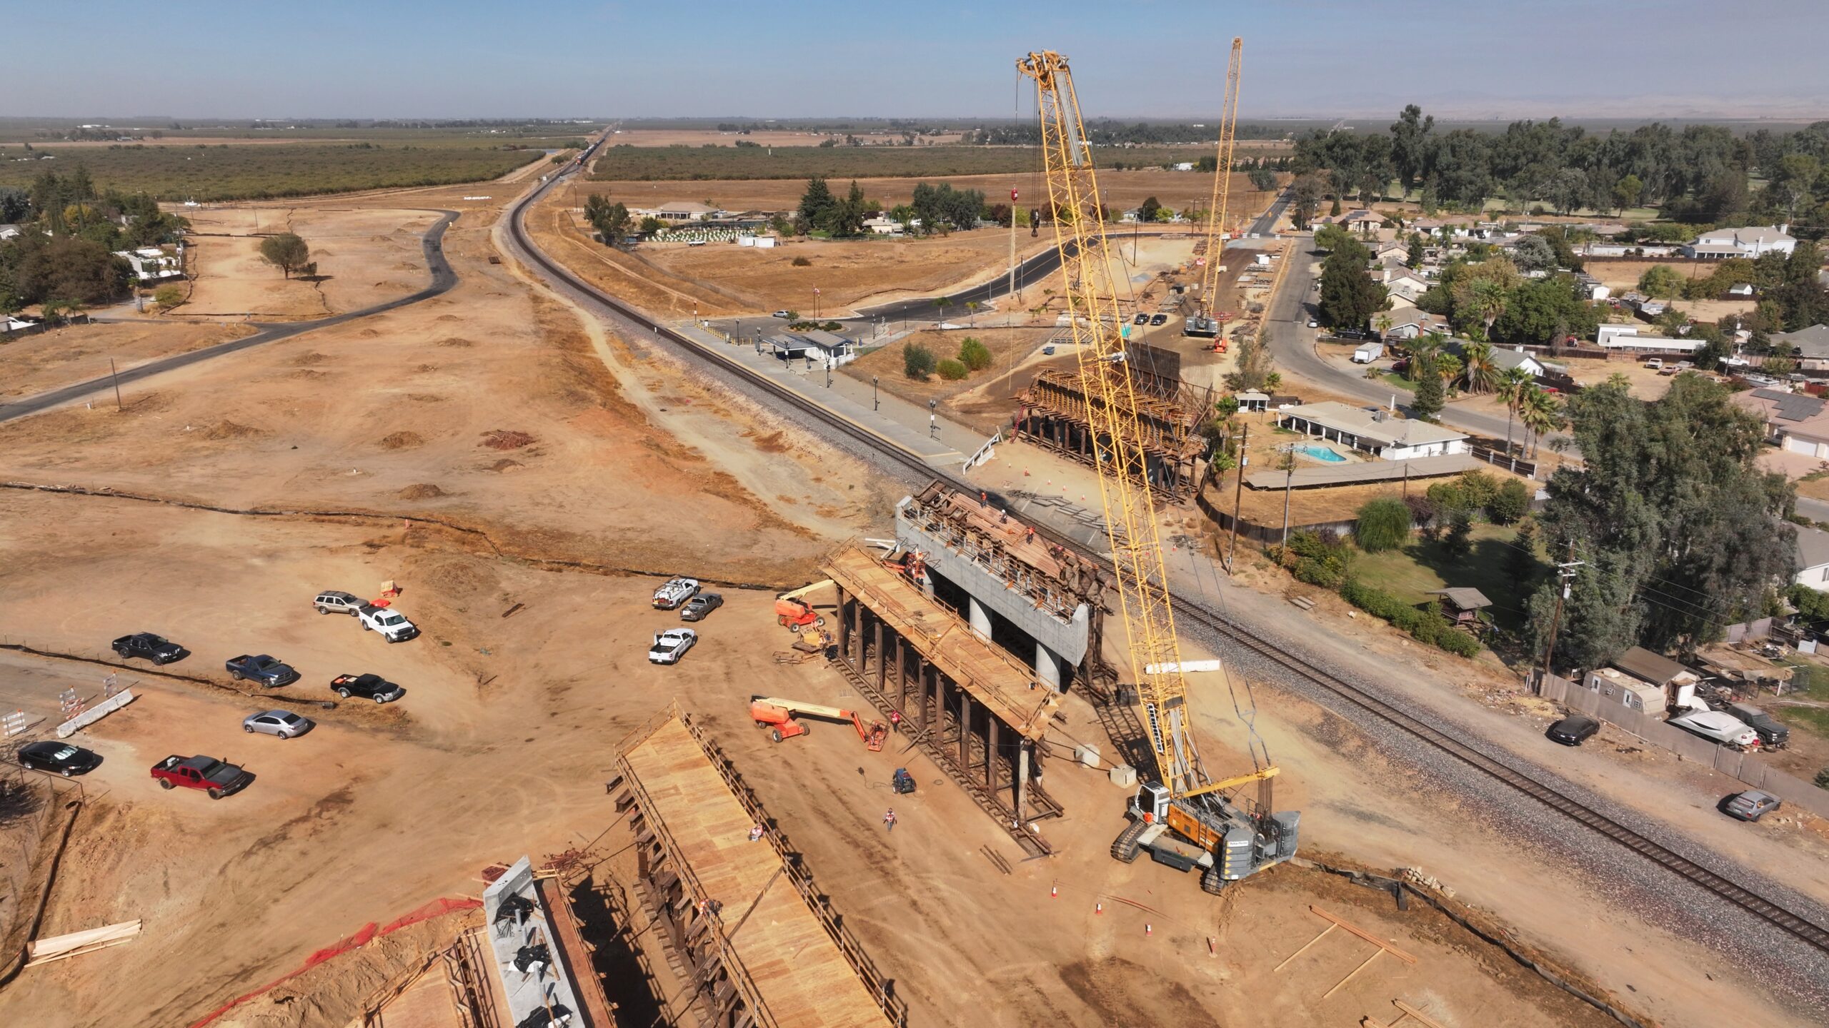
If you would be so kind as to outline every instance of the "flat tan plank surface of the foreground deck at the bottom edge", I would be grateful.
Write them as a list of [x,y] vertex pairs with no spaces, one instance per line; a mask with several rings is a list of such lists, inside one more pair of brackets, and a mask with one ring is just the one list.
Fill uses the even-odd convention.
[[777,1024],[880,1028],[887,1017],[799,893],[770,878],[781,856],[750,841],[750,814],[679,719],[669,719],[624,754],[647,796],[647,810],[679,847],[697,900],[722,904],[728,964],[744,973]]

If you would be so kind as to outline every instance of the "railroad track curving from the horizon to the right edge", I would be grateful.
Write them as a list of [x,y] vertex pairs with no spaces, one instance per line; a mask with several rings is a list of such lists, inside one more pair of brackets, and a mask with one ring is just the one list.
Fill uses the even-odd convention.
[[[514,238],[514,243],[521,249],[521,252],[527,256],[527,260],[530,260],[532,263],[540,265],[540,269],[545,271],[549,276],[552,276],[558,282],[567,284],[571,289],[574,289],[574,291],[589,296],[591,300],[602,304],[604,307],[609,307],[611,311],[615,311],[622,318],[627,318],[629,322],[635,322],[636,326],[653,331],[657,337],[668,338],[669,342],[675,344],[675,348],[677,348],[677,351],[679,351],[680,357],[684,357],[688,360],[695,360],[699,364],[706,364],[706,366],[710,366],[710,368],[713,368],[713,369],[717,369],[717,371],[721,371],[724,375],[737,377],[737,379],[746,380],[746,382],[750,382],[750,384],[754,384],[754,386],[757,386],[761,390],[766,390],[779,402],[783,402],[783,404],[786,404],[786,406],[790,406],[790,408],[805,413],[807,417],[810,417],[816,423],[830,428],[832,432],[838,432],[840,435],[845,435],[847,439],[850,439],[850,441],[858,443],[860,446],[867,448],[869,452],[872,452],[872,454],[876,454],[876,455],[880,455],[880,457],[883,457],[887,461],[893,461],[894,465],[900,465],[902,468],[909,470],[916,479],[920,479],[920,477],[944,477],[944,479],[949,479],[953,485],[958,485],[962,488],[975,488],[975,487],[969,487],[968,483],[964,483],[964,479],[953,476],[949,470],[936,468],[936,466],[929,465],[920,455],[911,454],[909,450],[904,450],[904,448],[896,446],[894,443],[883,439],[882,435],[876,435],[874,432],[869,432],[869,430],[865,430],[865,428],[861,428],[858,424],[852,424],[850,421],[840,417],[838,413],[827,410],[825,406],[814,402],[812,399],[803,397],[796,390],[781,386],[781,384],[770,380],[766,375],[752,371],[752,369],[748,369],[748,368],[744,368],[741,364],[721,360],[721,359],[713,357],[711,353],[706,353],[697,342],[686,338],[684,335],[669,329],[668,326],[664,326],[660,322],[651,320],[647,315],[640,313],[638,309],[629,307],[627,304],[622,304],[620,300],[615,300],[613,296],[607,296],[605,293],[602,293],[594,285],[589,285],[587,282],[583,282],[582,278],[578,278],[576,274],[572,274],[565,267],[562,267],[556,262],[552,262],[551,258],[547,258],[532,243],[532,240],[527,236],[527,232],[525,232],[525,229],[521,225],[521,212],[527,209],[527,205],[530,205],[547,188],[552,188],[552,185],[556,185],[562,179],[563,179],[563,176],[562,177],[554,177],[552,183],[549,183],[545,188],[529,194],[525,199],[518,201],[508,210],[508,234]],[[1050,541],[1054,541],[1057,545],[1072,547],[1074,551],[1077,551],[1077,552],[1081,552],[1085,556],[1096,558],[1096,560],[1108,560],[1105,554],[1092,552],[1085,545],[1081,545],[1079,541],[1075,541],[1070,536],[1064,536],[1064,534],[1061,534],[1061,532],[1057,532],[1057,530],[1054,530],[1054,529],[1050,529],[1046,525],[1035,525],[1035,530],[1041,532],[1043,536],[1046,536]],[[1460,739],[1454,739],[1452,735],[1449,735],[1447,732],[1441,732],[1441,730],[1434,728],[1432,724],[1427,724],[1423,721],[1417,721],[1416,717],[1410,717],[1408,713],[1405,713],[1399,708],[1385,702],[1383,699],[1379,699],[1375,695],[1370,695],[1364,690],[1359,690],[1357,686],[1353,686],[1353,684],[1350,684],[1346,680],[1341,680],[1341,679],[1330,675],[1328,671],[1322,671],[1321,668],[1317,668],[1317,666],[1302,660],[1300,657],[1286,653],[1286,651],[1278,649],[1277,646],[1271,646],[1271,644],[1257,638],[1255,635],[1247,633],[1244,627],[1236,626],[1231,618],[1220,615],[1218,611],[1209,609],[1207,605],[1200,604],[1198,600],[1193,600],[1193,598],[1182,596],[1182,594],[1174,594],[1174,604],[1176,604],[1176,611],[1178,613],[1183,613],[1185,616],[1191,616],[1194,622],[1205,626],[1209,631],[1214,631],[1214,633],[1225,637],[1227,640],[1231,640],[1231,642],[1235,642],[1235,644],[1238,644],[1238,646],[1242,646],[1242,648],[1257,653],[1258,657],[1262,657],[1266,660],[1271,660],[1273,664],[1277,664],[1277,666],[1284,668],[1286,671],[1300,677],[1302,680],[1306,680],[1306,682],[1321,688],[1322,691],[1332,693],[1333,697],[1339,697],[1342,702],[1348,702],[1353,708],[1357,708],[1357,710],[1361,710],[1361,712],[1364,712],[1364,713],[1368,713],[1368,715],[1383,721],[1385,724],[1388,724],[1388,726],[1392,726],[1392,728],[1396,728],[1399,732],[1405,732],[1407,735],[1417,739],[1419,743],[1423,743],[1427,746],[1432,746],[1432,748],[1436,748],[1436,750],[1439,750],[1439,752],[1443,752],[1443,754],[1447,754],[1447,755],[1461,761],[1463,765],[1467,765],[1467,766],[1471,766],[1471,768],[1474,768],[1474,770],[1478,770],[1478,772],[1481,772],[1481,774],[1485,774],[1485,776],[1489,776],[1489,777],[1503,783],[1505,787],[1511,787],[1511,788],[1514,788],[1514,790],[1518,790],[1518,792],[1522,792],[1522,794],[1536,799],[1544,807],[1549,807],[1551,810],[1556,810],[1558,814],[1569,818],[1571,821],[1577,821],[1577,823],[1580,823],[1580,825],[1584,825],[1584,827],[1599,832],[1600,836],[1604,836],[1608,840],[1613,840],[1615,843],[1622,845],[1624,849],[1630,849],[1630,851],[1637,852],[1639,856],[1650,860],[1652,863],[1657,863],[1659,867],[1670,871],[1672,874],[1677,874],[1679,878],[1690,882],[1692,885],[1695,885],[1699,889],[1705,889],[1706,893],[1710,893],[1714,896],[1719,896],[1721,900],[1727,900],[1728,904],[1734,904],[1736,907],[1747,911],[1749,915],[1758,916],[1759,920],[1765,920],[1767,924],[1772,924],[1772,926],[1776,926],[1776,927],[1791,933],[1792,937],[1796,937],[1796,938],[1800,938],[1800,940],[1814,946],[1816,949],[1829,953],[1829,929],[1824,929],[1816,922],[1813,922],[1809,918],[1803,918],[1803,916],[1800,916],[1800,915],[1796,915],[1796,913],[1781,907],[1780,904],[1776,904],[1772,900],[1767,900],[1765,896],[1754,893],[1752,889],[1747,889],[1745,885],[1739,885],[1739,883],[1725,878],[1723,874],[1717,874],[1717,873],[1714,873],[1714,871],[1710,871],[1710,869],[1706,869],[1706,867],[1703,867],[1703,865],[1688,860],[1686,856],[1683,856],[1679,852],[1674,852],[1674,851],[1659,845],[1657,841],[1648,840],[1646,836],[1642,836],[1642,834],[1631,830],[1630,827],[1626,827],[1626,825],[1622,825],[1622,823],[1608,818],[1606,814],[1602,814],[1602,812],[1599,812],[1599,810],[1595,810],[1595,808],[1591,808],[1591,807],[1588,807],[1588,805],[1584,805],[1584,803],[1580,803],[1577,799],[1571,799],[1569,796],[1564,796],[1556,788],[1553,788],[1549,785],[1544,785],[1542,781],[1536,781],[1535,777],[1531,777],[1531,776],[1527,776],[1527,774],[1524,774],[1524,772],[1520,772],[1520,770],[1516,770],[1516,768],[1513,768],[1513,766],[1509,766],[1509,765],[1505,765],[1505,763],[1502,763],[1502,761],[1498,761],[1498,759],[1494,759],[1494,757],[1491,757],[1487,754],[1481,754],[1480,750],[1469,746],[1467,743],[1461,743]],[[1118,743],[1118,741],[1114,739],[1114,743]]]

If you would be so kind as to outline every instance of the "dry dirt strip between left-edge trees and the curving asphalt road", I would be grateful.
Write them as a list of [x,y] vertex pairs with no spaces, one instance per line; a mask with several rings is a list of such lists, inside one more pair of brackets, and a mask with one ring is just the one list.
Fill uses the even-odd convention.
[[0,397],[26,397],[106,375],[110,357],[119,371],[126,371],[159,357],[229,342],[249,331],[252,329],[241,326],[181,322],[91,322],[27,335],[0,346]]

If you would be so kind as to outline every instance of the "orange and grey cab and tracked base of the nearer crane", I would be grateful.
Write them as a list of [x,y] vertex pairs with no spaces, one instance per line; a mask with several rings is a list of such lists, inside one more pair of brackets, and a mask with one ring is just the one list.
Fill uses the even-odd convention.
[[1299,810],[1255,818],[1218,792],[1176,799],[1160,781],[1145,781],[1130,799],[1130,825],[1112,843],[1125,863],[1149,851],[1150,860],[1176,871],[1200,871],[1200,887],[1218,894],[1238,882],[1295,856]]

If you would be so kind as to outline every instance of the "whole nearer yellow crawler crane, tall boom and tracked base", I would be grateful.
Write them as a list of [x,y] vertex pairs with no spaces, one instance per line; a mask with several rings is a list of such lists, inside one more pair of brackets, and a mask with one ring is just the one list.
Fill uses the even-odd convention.
[[[1240,44],[1233,44],[1229,104],[1236,108]],[[1108,236],[1099,207],[1099,183],[1092,168],[1092,145],[1079,115],[1079,97],[1066,57],[1037,51],[1017,60],[1017,71],[1035,80],[1041,112],[1043,165],[1048,205],[1054,210],[1055,247],[1061,251],[1068,307],[1074,318],[1074,355],[1086,390],[1086,415],[1099,472],[1107,541],[1128,638],[1128,664],[1138,682],[1141,723],[1154,752],[1154,777],[1130,798],[1123,832],[1112,856],[1128,863],[1143,851],[1158,863],[1180,871],[1200,869],[1200,887],[1220,893],[1229,882],[1295,856],[1300,812],[1271,812],[1271,781],[1277,766],[1257,732],[1251,732],[1253,770],[1213,779],[1194,744],[1194,717],[1182,644],[1174,631],[1169,569],[1145,466],[1145,432],[1138,415],[1136,382],[1128,373],[1125,324],[1112,278]],[[1222,177],[1229,168],[1227,132],[1220,137]],[[1220,254],[1209,254],[1209,263]],[[1205,300],[1205,298],[1203,298]],[[1247,719],[1249,724],[1249,719]],[[1262,763],[1258,759],[1262,750]],[[1231,790],[1257,783],[1255,805]]]

